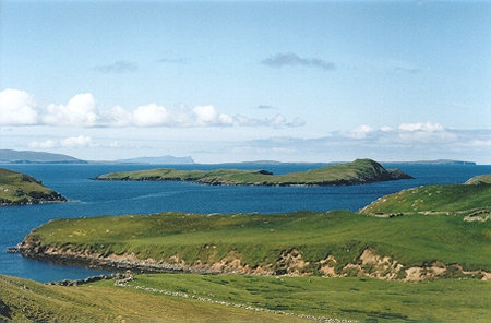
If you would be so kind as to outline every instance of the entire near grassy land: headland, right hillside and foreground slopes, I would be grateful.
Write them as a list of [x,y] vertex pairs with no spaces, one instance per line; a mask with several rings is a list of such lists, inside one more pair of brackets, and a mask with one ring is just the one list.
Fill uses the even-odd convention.
[[0,276],[0,321],[487,322],[490,201],[491,184],[444,184],[359,212],[52,220],[20,252],[127,274]]

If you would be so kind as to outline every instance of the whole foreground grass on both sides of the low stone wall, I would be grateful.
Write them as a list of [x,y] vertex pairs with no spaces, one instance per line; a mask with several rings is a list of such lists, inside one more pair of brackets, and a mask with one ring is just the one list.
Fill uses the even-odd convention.
[[127,287],[115,286],[112,279],[62,287],[0,276],[0,321],[307,322],[193,297],[358,322],[488,322],[491,315],[491,285],[475,279],[414,284],[370,278],[147,274],[136,275]]

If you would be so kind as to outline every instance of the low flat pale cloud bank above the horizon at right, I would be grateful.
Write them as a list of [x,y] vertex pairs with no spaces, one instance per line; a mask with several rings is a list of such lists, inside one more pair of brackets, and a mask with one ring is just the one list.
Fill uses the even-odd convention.
[[316,139],[254,140],[237,143],[233,151],[258,156],[256,159],[282,158],[294,162],[334,162],[367,157],[381,162],[460,159],[490,163],[491,129],[453,130],[438,123],[419,124],[400,124],[391,130],[385,128],[385,131],[373,130],[370,125],[358,127],[356,130],[359,133],[368,133],[364,137],[347,136],[346,132],[335,131]]

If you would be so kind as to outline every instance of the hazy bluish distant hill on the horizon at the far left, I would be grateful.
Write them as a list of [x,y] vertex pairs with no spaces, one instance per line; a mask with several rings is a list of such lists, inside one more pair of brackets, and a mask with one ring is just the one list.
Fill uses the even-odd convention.
[[0,164],[87,164],[87,162],[62,154],[33,151],[0,149]]

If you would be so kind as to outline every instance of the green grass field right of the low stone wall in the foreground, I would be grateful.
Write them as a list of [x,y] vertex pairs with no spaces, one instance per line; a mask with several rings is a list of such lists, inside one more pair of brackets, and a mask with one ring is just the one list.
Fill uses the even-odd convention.
[[491,315],[491,284],[471,279],[415,284],[371,278],[149,274],[136,276],[129,285],[359,322],[487,322]]

